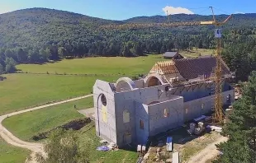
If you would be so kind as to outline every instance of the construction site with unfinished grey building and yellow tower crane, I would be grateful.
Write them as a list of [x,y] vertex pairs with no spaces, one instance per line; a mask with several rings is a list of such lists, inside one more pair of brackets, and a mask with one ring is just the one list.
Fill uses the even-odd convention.
[[118,147],[135,146],[144,156],[146,149],[154,144],[152,139],[159,140],[157,137],[163,136],[162,133],[168,151],[173,151],[172,135],[178,128],[185,127],[190,135],[201,135],[206,130],[221,132],[225,110],[230,111],[235,101],[235,88],[231,84],[235,73],[230,72],[220,57],[220,26],[231,16],[217,22],[212,7],[211,11],[213,21],[106,26],[216,26],[216,55],[158,62],[139,80],[129,77],[121,77],[116,83],[97,80],[93,86],[97,136]]

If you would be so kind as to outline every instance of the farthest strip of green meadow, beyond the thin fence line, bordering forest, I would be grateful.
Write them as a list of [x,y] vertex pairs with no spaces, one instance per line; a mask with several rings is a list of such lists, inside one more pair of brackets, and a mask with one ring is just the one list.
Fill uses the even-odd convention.
[[154,63],[163,60],[162,55],[149,55],[147,57],[123,58],[123,57],[98,57],[98,58],[74,58],[64,59],[58,63],[46,63],[43,65],[21,64],[17,65],[22,72],[40,73],[69,73],[69,74],[121,74],[138,75],[148,73]]

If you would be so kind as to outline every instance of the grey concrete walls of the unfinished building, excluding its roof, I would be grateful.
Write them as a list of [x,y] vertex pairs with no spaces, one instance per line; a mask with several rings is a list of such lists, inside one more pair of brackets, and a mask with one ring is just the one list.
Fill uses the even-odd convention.
[[[142,82],[138,83],[139,86]],[[97,80],[93,86],[97,136],[122,146],[129,142],[129,133],[131,143],[144,144],[149,136],[178,127],[185,120],[211,111],[213,95],[209,96],[206,86],[197,86],[194,91],[179,87],[175,95],[172,95],[173,90],[166,91],[166,86],[168,84],[114,92],[110,83]],[[105,107],[102,105],[101,95],[106,96]],[[184,95],[184,98],[177,95]],[[231,96],[232,102],[235,101],[234,91],[225,91],[222,95],[224,104],[228,95]],[[202,98],[199,98],[201,96]],[[199,99],[192,100],[195,98]],[[158,103],[149,105],[151,102]],[[201,104],[204,104],[202,109]],[[168,117],[164,117],[164,109],[168,109]],[[125,110],[130,114],[128,122],[124,122]],[[144,128],[140,128],[140,120],[143,121]]]

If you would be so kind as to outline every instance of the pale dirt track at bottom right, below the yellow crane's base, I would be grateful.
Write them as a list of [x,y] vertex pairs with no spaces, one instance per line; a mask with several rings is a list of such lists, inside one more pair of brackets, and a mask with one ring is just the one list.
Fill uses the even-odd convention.
[[220,142],[226,142],[228,140],[227,137],[220,137],[216,140],[216,142],[212,142],[209,144],[205,149],[197,153],[197,155],[192,156],[187,163],[205,163],[208,160],[211,160],[215,158],[219,151],[216,149],[216,144],[219,144]]

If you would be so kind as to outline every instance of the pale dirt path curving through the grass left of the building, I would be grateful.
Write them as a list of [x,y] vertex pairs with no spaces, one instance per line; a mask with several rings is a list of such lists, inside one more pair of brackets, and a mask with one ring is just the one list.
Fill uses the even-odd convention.
[[35,154],[36,154],[36,152],[40,152],[43,155],[45,155],[44,150],[43,150],[43,144],[37,143],[37,142],[24,142],[24,141],[21,141],[18,137],[15,137],[11,132],[9,132],[7,130],[7,128],[2,126],[2,120],[6,119],[7,117],[11,117],[13,115],[26,113],[26,112],[33,111],[33,110],[36,110],[36,109],[44,109],[46,107],[50,107],[50,106],[54,106],[54,105],[64,104],[64,103],[67,103],[67,102],[71,102],[73,100],[84,99],[84,98],[87,98],[89,96],[92,96],[92,95],[83,95],[83,96],[80,96],[80,97],[76,97],[76,98],[69,99],[69,100],[59,101],[59,102],[52,103],[52,104],[49,104],[49,105],[41,105],[41,106],[37,106],[35,108],[24,109],[24,110],[21,110],[21,111],[13,112],[11,114],[1,115],[0,116],[0,136],[7,143],[12,144],[12,146],[22,147],[22,148],[26,148],[26,149],[32,151],[32,153],[31,153],[32,160],[29,161],[29,162],[34,163],[34,162],[36,162],[35,161]]

